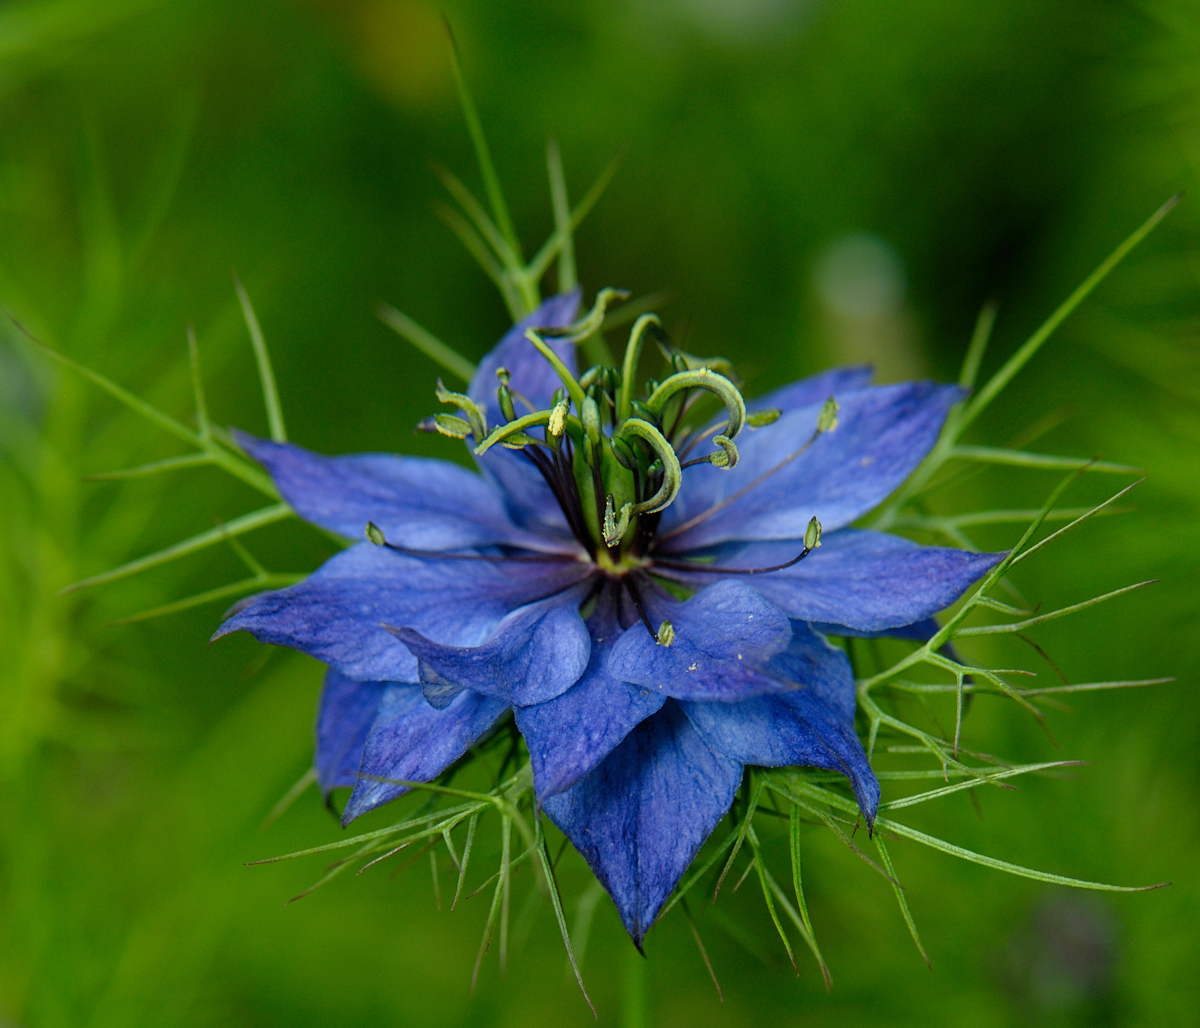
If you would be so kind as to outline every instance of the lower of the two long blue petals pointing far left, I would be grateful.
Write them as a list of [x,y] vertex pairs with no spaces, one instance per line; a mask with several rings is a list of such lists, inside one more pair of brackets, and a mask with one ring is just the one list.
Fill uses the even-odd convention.
[[416,681],[416,659],[384,625],[449,645],[476,645],[510,611],[577,583],[577,560],[514,563],[415,558],[361,542],[287,589],[247,601],[214,635],[247,631],[348,678]]

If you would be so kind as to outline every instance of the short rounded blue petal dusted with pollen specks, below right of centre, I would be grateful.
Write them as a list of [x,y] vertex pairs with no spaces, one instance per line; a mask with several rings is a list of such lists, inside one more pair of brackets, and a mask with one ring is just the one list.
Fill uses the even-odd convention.
[[745,583],[727,579],[683,603],[656,597],[648,606],[655,624],[671,620],[674,642],[659,645],[635,625],[608,657],[613,678],[678,699],[740,699],[780,687],[766,663],[787,648],[792,626]]

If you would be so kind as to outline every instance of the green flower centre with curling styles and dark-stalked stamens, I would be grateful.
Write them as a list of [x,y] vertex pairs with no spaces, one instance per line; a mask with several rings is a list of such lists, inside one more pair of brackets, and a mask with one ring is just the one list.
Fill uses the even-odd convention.
[[[480,456],[493,446],[524,453],[546,479],[575,537],[596,566],[612,576],[647,566],[662,511],[678,497],[688,468],[734,468],[734,439],[743,428],[769,425],[780,414],[762,410],[748,417],[728,361],[683,353],[654,314],[634,323],[619,368],[596,365],[576,378],[546,339],[587,339],[600,331],[607,305],[618,297],[624,294],[602,289],[592,311],[575,325],[526,332],[562,381],[546,409],[534,410],[510,387],[508,371],[499,368],[497,401],[503,425],[490,428],[479,404],[440,381],[438,399],[461,414],[437,414],[421,423],[445,435],[472,437]],[[659,347],[670,373],[637,391],[637,366],[647,339]],[[720,401],[726,417],[702,431],[694,420],[697,404],[708,396]],[[515,399],[529,413],[518,416]],[[706,441],[713,449],[691,457]]]

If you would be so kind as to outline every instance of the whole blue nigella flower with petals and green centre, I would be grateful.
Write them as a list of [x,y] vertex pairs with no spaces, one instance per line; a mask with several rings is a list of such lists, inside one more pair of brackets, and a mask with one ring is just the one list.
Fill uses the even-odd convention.
[[[437,777],[511,710],[538,804],[641,945],[746,765],[841,772],[874,822],[827,636],[929,638],[998,558],[848,527],[925,456],[956,386],[844,368],[748,404],[650,317],[622,368],[578,375],[606,300],[580,323],[577,294],[545,302],[467,395],[439,384],[458,413],[427,427],[469,438],[479,474],[239,437],[301,517],[367,541],[217,636],[329,666],[316,770],[326,793],[353,787],[346,824],[404,792],[380,780]],[[635,398],[652,338],[670,374]],[[694,426],[706,395],[726,413]]]

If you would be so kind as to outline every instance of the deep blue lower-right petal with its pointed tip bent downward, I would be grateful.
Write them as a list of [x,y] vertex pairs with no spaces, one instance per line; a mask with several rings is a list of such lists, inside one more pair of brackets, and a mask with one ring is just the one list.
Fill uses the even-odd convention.
[[874,824],[880,783],[854,732],[854,678],[846,655],[798,630],[773,665],[798,687],[740,703],[683,703],[688,719],[713,751],[732,761],[840,771]]

